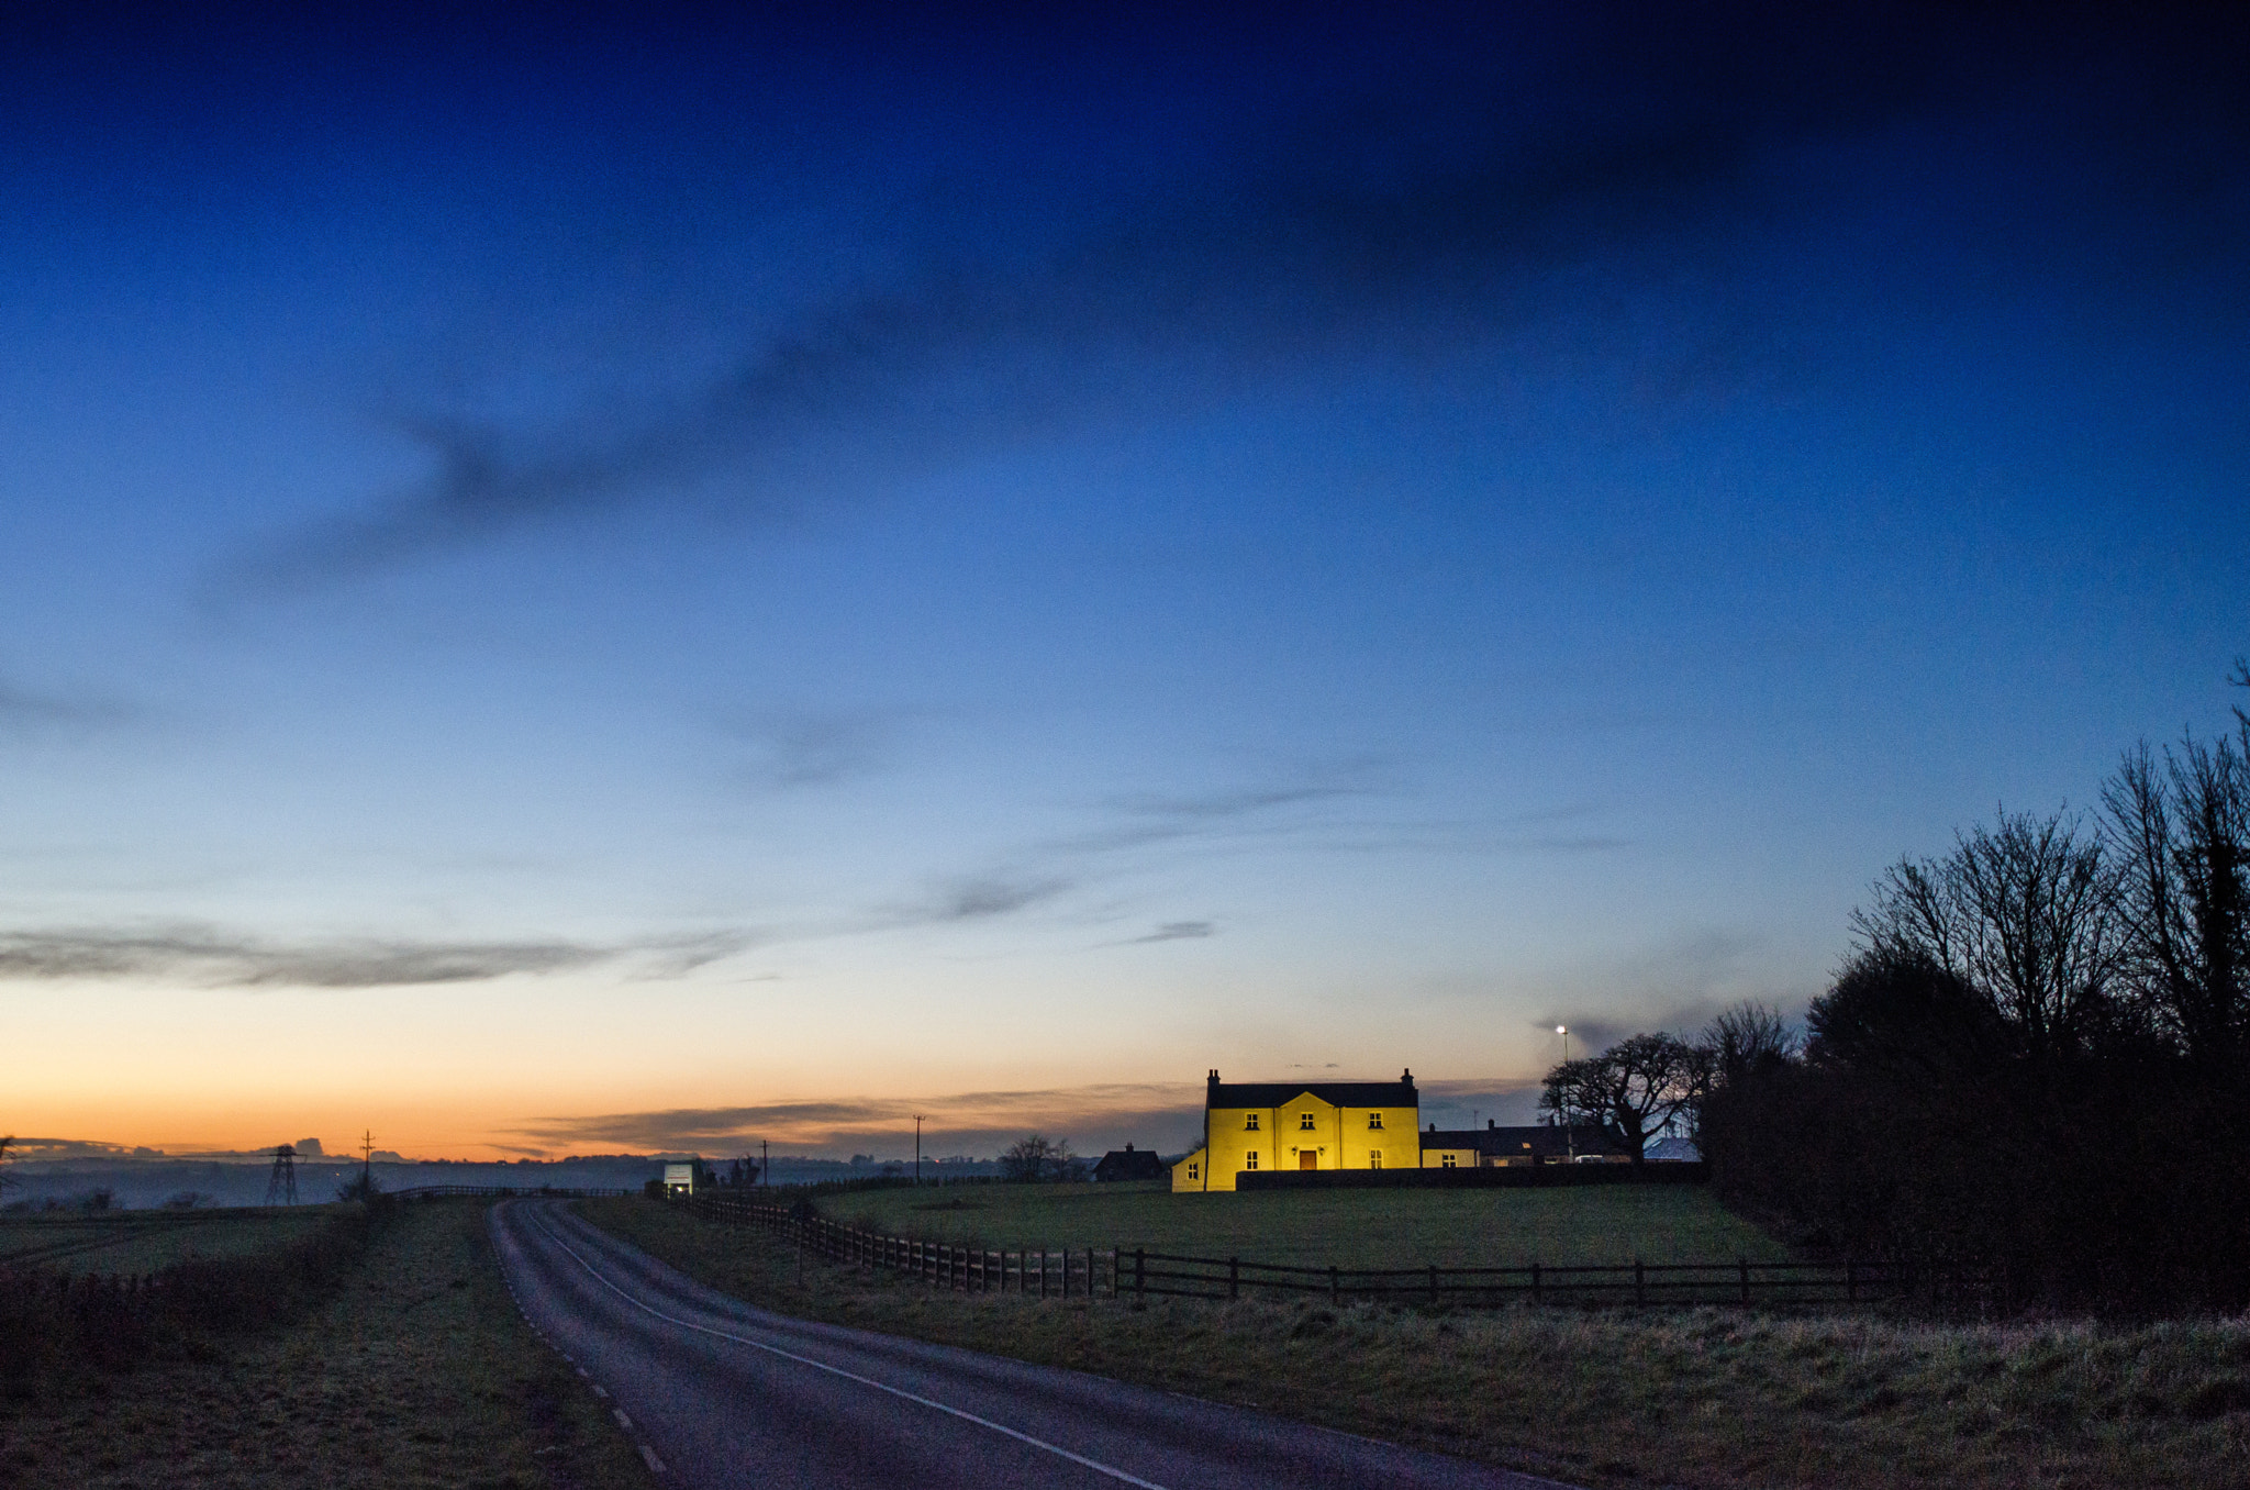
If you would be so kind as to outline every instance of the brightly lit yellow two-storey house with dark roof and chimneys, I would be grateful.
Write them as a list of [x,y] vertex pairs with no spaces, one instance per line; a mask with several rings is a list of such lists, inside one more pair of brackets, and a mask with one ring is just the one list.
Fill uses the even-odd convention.
[[1397,1080],[1222,1083],[1204,1094],[1204,1146],[1172,1166],[1172,1191],[1231,1191],[1260,1170],[1415,1168],[1422,1098]]

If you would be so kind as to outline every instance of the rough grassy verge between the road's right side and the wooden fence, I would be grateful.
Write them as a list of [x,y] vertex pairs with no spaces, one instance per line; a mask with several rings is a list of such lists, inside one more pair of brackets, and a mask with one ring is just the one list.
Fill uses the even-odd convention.
[[2250,1323],[1944,1328],[1732,1310],[1035,1301],[803,1263],[641,1200],[583,1211],[770,1308],[1094,1371],[1593,1485],[2243,1483]]

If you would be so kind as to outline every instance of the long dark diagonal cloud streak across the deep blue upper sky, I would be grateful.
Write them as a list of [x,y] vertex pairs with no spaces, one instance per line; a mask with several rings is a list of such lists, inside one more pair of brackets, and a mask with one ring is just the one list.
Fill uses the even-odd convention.
[[[1321,358],[1492,338],[1548,313],[1562,268],[1784,212],[1757,191],[1764,160],[2002,92],[2043,65],[2002,29],[1944,11],[1708,9],[1593,7],[1451,47],[1431,25],[1422,52],[1298,97],[1287,124],[1264,99],[1233,99],[1199,171],[1082,173],[1161,187],[1112,185],[1071,212],[968,194],[961,221],[900,234],[938,245],[907,270],[814,293],[675,398],[522,428],[398,421],[430,455],[421,482],[234,578],[320,585],[558,513],[709,500],[713,477],[731,511],[776,522],[810,491],[864,495],[1055,421],[1188,407]],[[1978,59],[2009,65],[1984,77]],[[976,232],[983,212],[1076,227],[1026,248]]]

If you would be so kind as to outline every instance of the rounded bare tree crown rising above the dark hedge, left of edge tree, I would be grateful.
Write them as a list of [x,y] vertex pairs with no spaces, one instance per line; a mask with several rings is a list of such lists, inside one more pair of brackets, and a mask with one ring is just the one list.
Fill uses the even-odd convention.
[[2097,1038],[2128,952],[2117,876],[2077,817],[1998,815],[1944,860],[1901,860],[1852,914],[1861,950],[1928,959],[1989,997],[2041,1058]]

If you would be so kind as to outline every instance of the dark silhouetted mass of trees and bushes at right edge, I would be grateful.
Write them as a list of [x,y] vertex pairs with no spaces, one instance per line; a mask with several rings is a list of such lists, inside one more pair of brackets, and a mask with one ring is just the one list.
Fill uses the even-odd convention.
[[2128,752],[2092,815],[1894,864],[1802,1042],[1764,1011],[1706,1038],[1721,1197],[2002,1305],[2250,1305],[2246,867],[2241,709]]

